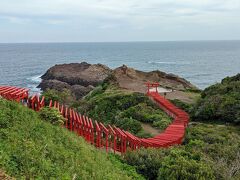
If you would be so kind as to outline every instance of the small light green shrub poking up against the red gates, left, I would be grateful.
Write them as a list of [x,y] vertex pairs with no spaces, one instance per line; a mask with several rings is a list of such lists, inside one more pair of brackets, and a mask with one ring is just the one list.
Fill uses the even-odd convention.
[[63,125],[65,122],[64,117],[56,108],[44,107],[40,110],[39,116],[42,120],[55,125]]

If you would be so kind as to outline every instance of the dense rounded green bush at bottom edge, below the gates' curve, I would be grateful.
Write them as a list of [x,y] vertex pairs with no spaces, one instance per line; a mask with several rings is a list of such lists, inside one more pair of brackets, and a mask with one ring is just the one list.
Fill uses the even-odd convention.
[[214,179],[211,167],[200,154],[176,147],[128,152],[125,160],[147,179]]

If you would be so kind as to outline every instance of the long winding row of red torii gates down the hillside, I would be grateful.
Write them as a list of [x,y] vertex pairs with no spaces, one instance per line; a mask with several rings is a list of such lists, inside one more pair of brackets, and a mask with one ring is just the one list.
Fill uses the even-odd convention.
[[105,148],[106,152],[124,154],[127,150],[136,150],[142,147],[161,148],[181,144],[189,122],[189,115],[158,93],[159,83],[146,83],[146,86],[147,96],[173,118],[172,123],[164,132],[152,138],[139,138],[116,126],[104,125],[56,101],[50,100],[49,104],[45,104],[44,96],[40,97],[37,94],[29,96],[29,89],[26,88],[0,86],[0,96],[7,100],[26,104],[35,111],[39,111],[45,106],[58,109],[65,119],[64,127],[82,136],[97,148]]

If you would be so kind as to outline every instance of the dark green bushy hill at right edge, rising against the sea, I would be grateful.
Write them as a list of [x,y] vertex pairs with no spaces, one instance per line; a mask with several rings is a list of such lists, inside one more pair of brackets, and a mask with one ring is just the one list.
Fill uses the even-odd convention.
[[192,114],[194,120],[240,124],[240,74],[206,88]]

